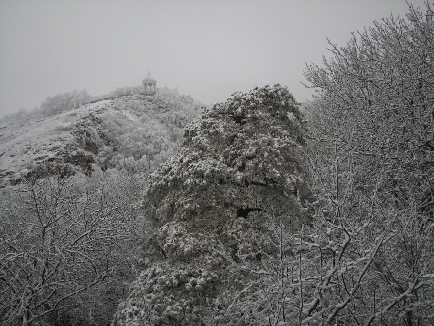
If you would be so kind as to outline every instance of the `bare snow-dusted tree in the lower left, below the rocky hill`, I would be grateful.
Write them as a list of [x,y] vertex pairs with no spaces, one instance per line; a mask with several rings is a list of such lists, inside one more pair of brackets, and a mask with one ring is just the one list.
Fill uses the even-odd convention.
[[76,193],[64,175],[29,179],[16,191],[18,204],[9,201],[1,211],[0,319],[12,325],[107,319],[134,259],[125,200],[90,183],[84,195]]

